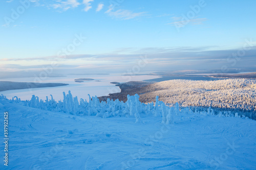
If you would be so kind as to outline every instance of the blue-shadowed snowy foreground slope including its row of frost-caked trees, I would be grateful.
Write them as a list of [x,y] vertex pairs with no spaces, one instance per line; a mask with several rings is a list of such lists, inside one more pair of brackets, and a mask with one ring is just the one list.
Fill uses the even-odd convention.
[[[179,110],[178,104],[168,108],[158,99],[156,105],[140,104],[138,95],[130,96],[126,103],[99,104],[93,98],[79,103],[84,111],[77,112],[75,108],[80,105],[70,94],[65,94],[63,102],[49,100],[40,104],[35,96],[28,102],[1,97],[0,111],[9,112],[10,140],[9,166],[1,163],[0,169],[256,167],[255,120],[240,118],[235,113],[215,115],[212,109]],[[74,110],[67,110],[64,101]],[[101,112],[97,110],[101,106],[109,116],[88,116]],[[89,111],[92,108],[94,112]],[[0,119],[4,122],[4,116]],[[0,147],[4,148],[3,142]]]

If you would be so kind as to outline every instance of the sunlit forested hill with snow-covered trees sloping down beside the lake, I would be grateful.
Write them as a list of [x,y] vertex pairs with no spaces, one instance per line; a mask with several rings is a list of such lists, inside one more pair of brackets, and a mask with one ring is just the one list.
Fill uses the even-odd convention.
[[121,93],[102,96],[125,101],[127,94],[140,95],[143,103],[154,102],[156,96],[166,104],[181,107],[212,107],[234,111],[256,119],[256,80],[227,79],[217,81],[169,80],[153,84],[127,82],[119,84]]

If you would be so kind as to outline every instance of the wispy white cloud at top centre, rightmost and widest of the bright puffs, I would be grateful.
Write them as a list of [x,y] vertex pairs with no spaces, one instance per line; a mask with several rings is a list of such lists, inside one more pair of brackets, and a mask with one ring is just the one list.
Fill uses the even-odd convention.
[[132,11],[129,11],[129,10],[122,10],[122,9],[119,9],[117,11],[113,11],[113,6],[109,6],[109,10],[106,11],[105,13],[112,16],[112,17],[116,17],[116,18],[120,18],[120,19],[123,19],[123,20],[127,20],[127,19],[133,19],[135,17],[138,17],[138,16],[142,16],[145,14],[145,12],[139,12],[139,13],[135,13],[135,12],[132,12]]

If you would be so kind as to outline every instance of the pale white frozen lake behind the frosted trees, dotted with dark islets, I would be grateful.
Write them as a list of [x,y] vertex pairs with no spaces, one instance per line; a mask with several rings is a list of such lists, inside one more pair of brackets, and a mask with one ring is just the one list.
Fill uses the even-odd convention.
[[[84,81],[82,83],[75,82],[75,79],[89,78],[94,79],[92,81]],[[36,83],[67,83],[67,86],[58,87],[46,87],[46,88],[31,88],[31,89],[19,89],[19,90],[7,90],[0,91],[0,94],[4,94],[8,99],[12,99],[13,96],[17,96],[21,100],[31,100],[32,95],[36,95],[39,99],[46,100],[46,96],[53,95],[55,100],[63,100],[62,92],[68,93],[71,90],[73,96],[77,96],[78,99],[89,99],[88,94],[91,96],[108,95],[109,93],[120,92],[120,88],[111,84],[111,82],[129,82],[129,81],[142,81],[147,79],[156,79],[159,76],[121,76],[121,74],[110,75],[67,75],[67,77],[46,78],[42,82]],[[0,79],[0,81],[12,81],[12,82],[34,82],[34,78],[10,78]]]

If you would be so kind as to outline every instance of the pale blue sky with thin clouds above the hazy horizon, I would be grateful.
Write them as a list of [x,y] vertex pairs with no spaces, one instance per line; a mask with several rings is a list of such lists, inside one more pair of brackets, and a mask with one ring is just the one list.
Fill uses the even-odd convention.
[[255,7],[254,0],[1,1],[0,78],[44,67],[255,70]]

